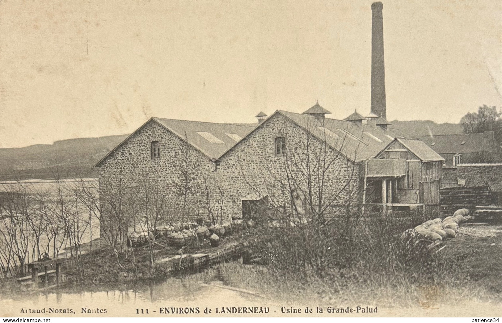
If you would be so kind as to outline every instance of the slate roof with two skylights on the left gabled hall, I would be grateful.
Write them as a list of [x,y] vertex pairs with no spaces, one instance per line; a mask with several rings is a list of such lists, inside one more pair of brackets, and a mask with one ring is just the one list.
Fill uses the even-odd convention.
[[183,141],[188,142],[195,149],[199,150],[211,159],[218,159],[221,154],[235,145],[242,137],[245,137],[249,131],[256,127],[256,125],[175,120],[153,117],[119,143],[115,148],[110,150],[101,160],[98,161],[95,167],[99,167],[103,160],[108,158],[109,155],[111,155],[124,143],[129,141],[132,136],[134,136],[150,122],[160,124],[166,130],[174,133]]

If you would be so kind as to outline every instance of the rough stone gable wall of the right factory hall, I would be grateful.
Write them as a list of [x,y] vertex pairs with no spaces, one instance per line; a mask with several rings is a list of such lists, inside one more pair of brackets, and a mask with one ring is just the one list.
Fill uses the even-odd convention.
[[[287,157],[276,155],[276,137],[286,138]],[[307,136],[303,128],[285,116],[276,114],[220,158],[217,172],[221,175],[229,202],[225,212],[228,215],[240,215],[241,199],[248,195],[268,196],[272,206],[288,208],[291,205],[291,188],[297,191],[295,195],[301,195],[300,188],[304,189],[307,182],[315,182],[313,179],[305,180],[305,174],[299,174],[300,170],[306,169],[306,152],[309,151],[310,157],[314,159],[323,148],[326,145],[320,140]],[[322,176],[324,198],[333,198],[330,204],[345,204],[349,193],[353,192],[352,203],[357,203],[359,167],[354,167],[353,163],[330,147],[327,150],[326,159],[333,159],[333,164]],[[320,164],[311,161],[311,169],[314,170]],[[288,184],[288,174],[294,178],[290,183],[297,181],[296,184]],[[349,181],[349,178],[353,180]],[[348,182],[350,185],[347,187]],[[337,193],[339,196],[335,198]]]

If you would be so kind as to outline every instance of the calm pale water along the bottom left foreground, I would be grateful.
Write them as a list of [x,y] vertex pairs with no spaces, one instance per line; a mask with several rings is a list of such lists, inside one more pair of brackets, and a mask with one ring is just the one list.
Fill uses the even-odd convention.
[[[75,287],[73,289],[49,290],[45,292],[24,292],[9,299],[0,300],[3,316],[30,316],[21,313],[22,309],[44,309],[45,313],[35,313],[32,316],[68,316],[88,315],[83,310],[106,309],[109,316],[135,316],[137,309],[149,309],[149,315],[160,315],[164,307],[195,307],[199,311],[207,306],[209,308],[231,306],[264,306],[270,304],[263,297],[224,288],[219,281],[209,285],[201,284],[197,279],[170,278],[154,285],[141,285],[119,287],[100,286],[93,288]],[[101,289],[101,290],[99,290]],[[75,314],[49,313],[50,308],[70,309]],[[9,312],[5,312],[5,311]],[[28,313],[29,314],[29,313]],[[97,314],[104,313],[91,313]],[[166,315],[166,314],[163,314]]]

